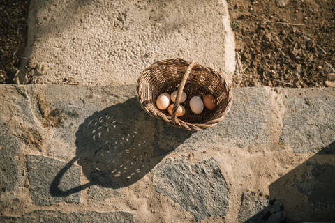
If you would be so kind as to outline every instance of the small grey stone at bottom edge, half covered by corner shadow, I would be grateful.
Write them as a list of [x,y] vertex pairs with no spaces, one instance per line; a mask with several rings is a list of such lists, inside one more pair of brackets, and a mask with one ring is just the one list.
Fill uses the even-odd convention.
[[239,222],[257,223],[284,222],[285,213],[281,201],[244,192],[242,195],[241,209],[239,210]]

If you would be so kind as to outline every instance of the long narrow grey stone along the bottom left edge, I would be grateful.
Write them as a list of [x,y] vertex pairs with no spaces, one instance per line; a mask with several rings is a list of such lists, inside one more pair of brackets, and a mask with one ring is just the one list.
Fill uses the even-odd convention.
[[62,213],[57,210],[35,210],[31,213],[23,215],[23,217],[0,217],[0,222],[6,223],[67,223],[67,222],[85,222],[85,223],[105,223],[119,222],[131,223],[135,222],[133,214],[126,212],[107,212],[98,213],[90,211],[88,213],[74,212]]

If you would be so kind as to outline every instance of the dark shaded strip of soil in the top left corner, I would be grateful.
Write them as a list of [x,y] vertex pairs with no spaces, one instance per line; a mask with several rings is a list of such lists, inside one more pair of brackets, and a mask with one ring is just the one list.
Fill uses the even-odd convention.
[[29,0],[0,0],[0,84],[13,84],[26,45]]

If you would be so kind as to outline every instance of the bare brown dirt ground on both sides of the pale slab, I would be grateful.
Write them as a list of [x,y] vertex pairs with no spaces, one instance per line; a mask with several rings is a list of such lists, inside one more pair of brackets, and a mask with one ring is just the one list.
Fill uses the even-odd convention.
[[[282,0],[283,1],[283,0]],[[228,0],[237,44],[232,86],[325,86],[335,67],[335,0]],[[0,0],[0,84],[13,84],[29,0]],[[328,64],[329,65],[328,65]]]

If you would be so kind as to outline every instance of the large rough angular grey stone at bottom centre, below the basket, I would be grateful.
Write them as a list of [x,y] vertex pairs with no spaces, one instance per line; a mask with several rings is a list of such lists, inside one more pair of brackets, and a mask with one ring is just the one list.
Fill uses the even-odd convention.
[[214,159],[196,164],[168,159],[154,170],[154,183],[157,192],[179,203],[196,220],[228,212],[228,185]]

